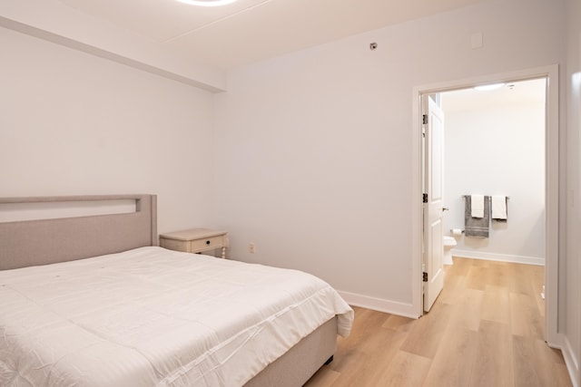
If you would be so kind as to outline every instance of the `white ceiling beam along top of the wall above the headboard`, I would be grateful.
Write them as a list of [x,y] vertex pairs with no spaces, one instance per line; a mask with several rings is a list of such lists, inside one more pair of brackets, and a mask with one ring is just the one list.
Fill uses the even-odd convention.
[[210,92],[226,90],[223,71],[192,63],[153,41],[54,0],[3,0],[0,26]]

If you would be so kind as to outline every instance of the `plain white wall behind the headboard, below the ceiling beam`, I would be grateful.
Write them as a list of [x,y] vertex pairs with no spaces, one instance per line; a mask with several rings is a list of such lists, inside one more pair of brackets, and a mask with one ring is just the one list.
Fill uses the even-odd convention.
[[0,196],[154,193],[209,224],[212,94],[0,28]]

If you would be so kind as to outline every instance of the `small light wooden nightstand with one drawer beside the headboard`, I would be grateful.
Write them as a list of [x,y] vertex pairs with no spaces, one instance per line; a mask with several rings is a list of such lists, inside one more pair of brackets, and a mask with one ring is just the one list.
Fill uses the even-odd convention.
[[227,231],[209,228],[192,228],[160,235],[160,246],[185,253],[222,248],[222,258],[226,257]]

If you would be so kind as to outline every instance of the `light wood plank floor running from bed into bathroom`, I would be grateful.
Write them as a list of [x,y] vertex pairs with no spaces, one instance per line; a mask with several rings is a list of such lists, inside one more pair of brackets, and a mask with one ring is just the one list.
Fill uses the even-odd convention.
[[542,266],[454,257],[418,320],[354,307],[350,336],[306,386],[571,386],[544,342],[543,276]]

